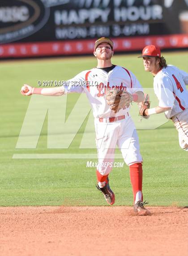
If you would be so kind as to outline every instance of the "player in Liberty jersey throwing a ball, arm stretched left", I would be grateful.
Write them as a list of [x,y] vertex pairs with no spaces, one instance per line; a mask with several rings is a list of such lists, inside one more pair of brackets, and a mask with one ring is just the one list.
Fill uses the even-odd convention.
[[[129,114],[130,103],[143,101],[144,94],[132,72],[111,63],[113,46],[113,41],[109,38],[96,40],[94,56],[97,58],[97,67],[79,73],[67,81],[67,86],[34,88],[24,85],[21,94],[60,96],[73,92],[85,93],[94,115],[98,151],[97,188],[103,193],[107,203],[113,205],[115,195],[109,186],[108,175],[114,162],[115,146],[118,145],[130,169],[134,211],[139,215],[148,215],[150,211],[145,209],[142,195],[142,157],[139,141]],[[75,86],[77,83],[81,86]]]

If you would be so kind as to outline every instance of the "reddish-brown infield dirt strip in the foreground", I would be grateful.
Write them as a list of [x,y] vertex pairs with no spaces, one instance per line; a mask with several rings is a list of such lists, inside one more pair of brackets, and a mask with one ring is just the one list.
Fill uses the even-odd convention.
[[1,256],[187,256],[188,208],[0,207]]

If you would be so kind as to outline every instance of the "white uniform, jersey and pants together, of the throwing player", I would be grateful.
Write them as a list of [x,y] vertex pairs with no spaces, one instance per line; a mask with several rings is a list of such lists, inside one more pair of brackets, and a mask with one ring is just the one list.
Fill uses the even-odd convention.
[[[87,81],[87,82],[86,82]],[[84,92],[89,99],[95,117],[96,146],[98,151],[98,171],[107,175],[112,167],[106,163],[114,161],[115,147],[118,145],[127,165],[142,162],[139,141],[134,123],[128,114],[129,108],[114,113],[107,104],[107,88],[117,88],[133,94],[143,91],[136,76],[124,67],[115,66],[110,72],[100,68],[85,70],[68,80],[65,93]],[[76,86],[77,85],[77,86]],[[115,122],[108,122],[109,117],[124,117]],[[103,119],[101,122],[100,120]],[[106,122],[107,121],[107,122]]]

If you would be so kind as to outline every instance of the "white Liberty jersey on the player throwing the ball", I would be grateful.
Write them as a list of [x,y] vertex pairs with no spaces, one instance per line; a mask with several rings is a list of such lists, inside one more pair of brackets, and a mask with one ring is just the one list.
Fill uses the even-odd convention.
[[[88,81],[88,82],[86,82]],[[100,68],[85,70],[67,81],[64,86],[65,93],[86,93],[95,118],[121,116],[128,112],[129,108],[120,109],[118,113],[111,111],[105,99],[107,88],[119,88],[133,94],[143,91],[139,81],[132,72],[124,67],[115,66],[110,72]]]

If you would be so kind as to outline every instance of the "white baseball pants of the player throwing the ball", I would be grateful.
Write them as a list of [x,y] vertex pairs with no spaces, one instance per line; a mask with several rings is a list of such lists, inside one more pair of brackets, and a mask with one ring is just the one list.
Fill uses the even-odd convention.
[[131,117],[115,122],[109,122],[108,118],[103,120],[100,122],[99,119],[95,119],[97,170],[102,175],[108,175],[111,172],[116,145],[120,148],[124,162],[128,166],[142,162],[137,131]]

